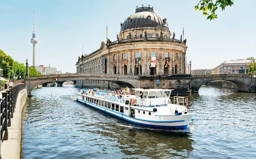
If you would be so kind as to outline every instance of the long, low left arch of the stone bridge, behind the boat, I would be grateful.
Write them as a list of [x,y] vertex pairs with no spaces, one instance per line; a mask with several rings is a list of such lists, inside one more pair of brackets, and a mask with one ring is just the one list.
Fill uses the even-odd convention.
[[58,81],[67,80],[105,80],[111,81],[116,84],[127,85],[130,88],[137,88],[138,76],[137,75],[108,75],[108,74],[90,74],[90,73],[73,73],[73,74],[58,74],[58,75],[39,75],[28,76],[27,80],[27,95],[30,97],[32,90],[40,84],[54,82],[55,78]]

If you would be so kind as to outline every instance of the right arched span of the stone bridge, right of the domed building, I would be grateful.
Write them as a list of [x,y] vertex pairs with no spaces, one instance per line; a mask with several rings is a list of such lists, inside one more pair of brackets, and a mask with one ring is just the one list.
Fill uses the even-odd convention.
[[216,80],[230,81],[237,86],[238,91],[256,92],[256,75],[246,74],[192,75],[190,86],[193,92],[198,92],[202,85]]

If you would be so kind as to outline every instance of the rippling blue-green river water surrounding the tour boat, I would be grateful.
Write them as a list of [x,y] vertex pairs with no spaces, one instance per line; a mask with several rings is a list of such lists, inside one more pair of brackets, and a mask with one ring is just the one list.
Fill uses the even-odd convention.
[[23,159],[256,158],[256,93],[201,87],[187,130],[130,124],[75,101],[78,88],[32,91],[23,113]]

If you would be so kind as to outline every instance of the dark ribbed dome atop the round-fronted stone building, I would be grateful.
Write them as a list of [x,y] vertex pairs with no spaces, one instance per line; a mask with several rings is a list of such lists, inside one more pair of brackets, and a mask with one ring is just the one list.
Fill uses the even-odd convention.
[[121,23],[121,31],[128,29],[160,29],[169,31],[166,18],[156,14],[153,7],[143,6],[137,8],[134,14]]

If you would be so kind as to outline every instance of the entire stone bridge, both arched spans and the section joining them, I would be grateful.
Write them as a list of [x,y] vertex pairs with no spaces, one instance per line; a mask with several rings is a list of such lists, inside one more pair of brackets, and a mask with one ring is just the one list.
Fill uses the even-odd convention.
[[[90,73],[73,73],[58,75],[40,75],[27,76],[27,94],[31,96],[32,89],[39,84],[55,81],[67,80],[104,80],[114,82],[119,85],[125,85],[130,88],[171,88],[176,91],[198,92],[202,85],[211,81],[226,80],[236,84],[239,91],[256,92],[256,76],[244,74],[225,74],[225,75],[187,75],[187,74],[165,74],[165,75],[118,75],[118,74],[90,74]],[[159,80],[159,84],[156,84]],[[180,93],[179,93],[180,94]],[[186,93],[185,93],[186,94]]]

